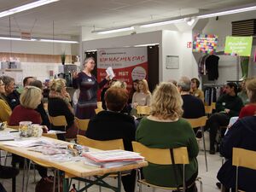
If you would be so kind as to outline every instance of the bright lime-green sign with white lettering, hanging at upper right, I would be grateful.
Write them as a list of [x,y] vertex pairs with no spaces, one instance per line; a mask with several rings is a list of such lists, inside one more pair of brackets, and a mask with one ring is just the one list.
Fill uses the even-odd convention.
[[224,54],[250,56],[252,52],[253,37],[231,37],[227,36]]

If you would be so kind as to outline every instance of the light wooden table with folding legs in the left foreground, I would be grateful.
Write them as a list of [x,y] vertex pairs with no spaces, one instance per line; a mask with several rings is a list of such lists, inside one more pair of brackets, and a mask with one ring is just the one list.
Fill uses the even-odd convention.
[[[0,132],[1,134],[1,132]],[[109,189],[113,189],[114,191],[119,192],[120,191],[120,184],[119,187],[113,187],[108,184],[105,184],[102,179],[104,177],[108,177],[110,173],[113,172],[124,172],[124,171],[129,171],[132,169],[137,169],[143,166],[148,166],[148,163],[144,160],[137,161],[135,163],[131,163],[128,165],[121,165],[121,166],[113,166],[113,167],[102,167],[102,166],[93,166],[90,164],[87,164],[84,161],[86,160],[76,160],[76,159],[71,159],[71,160],[52,160],[50,159],[47,155],[44,155],[42,153],[38,153],[32,150],[29,150],[29,148],[26,148],[27,145],[32,143],[32,140],[36,140],[38,143],[48,141],[56,144],[62,144],[62,145],[67,145],[70,143],[63,142],[60,140],[52,139],[49,137],[37,137],[37,138],[23,138],[25,142],[23,144],[19,144],[18,146],[15,146],[15,142],[17,141],[0,141],[0,148],[12,153],[12,154],[17,154],[20,155],[26,159],[33,160],[40,162],[45,165],[49,165],[51,167],[54,167],[61,172],[65,173],[65,179],[63,183],[63,191],[67,191],[67,186],[68,186],[68,177],[73,177],[77,180],[82,180],[86,181],[89,183],[86,186],[86,189],[88,189],[90,186],[93,184],[101,185],[103,187],[108,187]],[[19,140],[20,141],[20,140]],[[90,148],[90,151],[98,151],[97,149]],[[90,179],[86,179],[84,177],[90,177],[90,176],[96,176],[96,180],[91,181]],[[97,177],[98,176],[98,177]],[[120,182],[120,181],[119,181]],[[85,189],[85,188],[84,188]],[[84,191],[84,189],[80,189],[79,191]]]

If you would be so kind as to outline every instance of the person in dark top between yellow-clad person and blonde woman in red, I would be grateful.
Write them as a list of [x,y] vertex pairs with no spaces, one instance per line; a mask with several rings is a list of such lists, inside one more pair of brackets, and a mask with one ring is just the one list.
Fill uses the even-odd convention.
[[14,108],[20,105],[20,93],[15,90],[15,79],[9,76],[2,76],[3,84],[5,84],[5,100],[8,102],[9,107],[14,110]]

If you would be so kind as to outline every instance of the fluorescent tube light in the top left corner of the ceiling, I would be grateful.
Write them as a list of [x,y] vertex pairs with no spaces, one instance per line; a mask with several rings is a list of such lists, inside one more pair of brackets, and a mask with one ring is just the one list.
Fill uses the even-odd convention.
[[57,1],[59,1],[59,0],[39,0],[39,1],[36,1],[36,2],[33,2],[33,3],[27,3],[25,5],[21,5],[20,7],[16,7],[16,8],[5,10],[5,11],[1,12],[0,13],[0,18],[8,16],[8,15],[14,15],[14,14],[19,13],[21,11],[37,8],[37,7],[43,6],[45,4],[54,3],[54,2],[57,2]]

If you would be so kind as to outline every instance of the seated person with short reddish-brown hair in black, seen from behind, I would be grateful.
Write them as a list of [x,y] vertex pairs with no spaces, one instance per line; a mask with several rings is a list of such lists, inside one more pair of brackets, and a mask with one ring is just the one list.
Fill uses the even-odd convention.
[[[105,93],[107,111],[97,113],[90,119],[86,137],[105,141],[122,138],[125,150],[132,151],[131,141],[135,140],[135,123],[130,115],[120,113],[128,101],[127,91],[120,87],[111,87]],[[133,192],[136,172],[122,177],[125,192]]]

